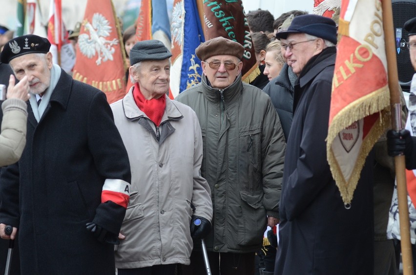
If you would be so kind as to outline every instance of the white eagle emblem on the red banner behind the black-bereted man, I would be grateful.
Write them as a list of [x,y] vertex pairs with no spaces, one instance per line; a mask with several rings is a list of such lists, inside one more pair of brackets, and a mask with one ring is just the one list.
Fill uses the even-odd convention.
[[97,65],[107,60],[113,60],[114,47],[119,40],[114,38],[113,40],[106,40],[104,37],[108,37],[111,33],[110,22],[99,13],[95,13],[92,16],[92,24],[85,20],[83,26],[89,35],[81,34],[78,37],[78,45],[81,53],[88,58],[95,56],[97,52],[98,59],[95,61]]

